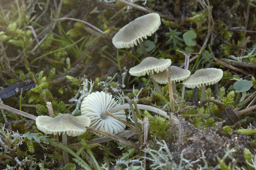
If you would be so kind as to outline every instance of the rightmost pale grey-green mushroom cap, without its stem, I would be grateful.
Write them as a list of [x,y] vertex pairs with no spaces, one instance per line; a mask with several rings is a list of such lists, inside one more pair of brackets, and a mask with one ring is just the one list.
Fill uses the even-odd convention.
[[188,88],[199,88],[202,85],[213,85],[220,81],[223,71],[216,68],[200,69],[183,81],[183,85]]

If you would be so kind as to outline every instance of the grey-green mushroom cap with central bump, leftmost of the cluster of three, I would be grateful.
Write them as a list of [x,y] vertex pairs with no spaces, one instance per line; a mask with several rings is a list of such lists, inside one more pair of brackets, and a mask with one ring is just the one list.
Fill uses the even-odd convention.
[[145,76],[146,74],[149,75],[149,72],[153,73],[153,70],[158,73],[159,71],[166,70],[172,61],[170,59],[157,59],[154,57],[147,57],[140,64],[135,67],[132,67],[129,70],[129,73],[132,76]]

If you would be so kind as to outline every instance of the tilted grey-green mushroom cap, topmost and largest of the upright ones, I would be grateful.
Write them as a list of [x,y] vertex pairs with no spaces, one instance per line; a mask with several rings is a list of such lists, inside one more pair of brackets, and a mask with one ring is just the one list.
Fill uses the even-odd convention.
[[137,46],[139,39],[147,39],[160,25],[161,20],[157,13],[143,15],[121,28],[113,37],[112,43],[116,48],[130,48],[134,44]]

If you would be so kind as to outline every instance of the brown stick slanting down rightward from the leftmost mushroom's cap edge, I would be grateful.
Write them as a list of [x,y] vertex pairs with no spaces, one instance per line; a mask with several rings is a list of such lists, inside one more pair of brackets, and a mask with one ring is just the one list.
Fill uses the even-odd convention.
[[133,143],[133,142],[126,141],[126,140],[124,140],[123,138],[118,137],[118,136],[116,136],[116,135],[113,135],[113,134],[111,134],[111,133],[105,132],[105,131],[103,131],[103,130],[97,130],[97,129],[91,128],[91,127],[89,127],[89,126],[85,126],[85,128],[86,128],[86,129],[89,129],[89,130],[91,130],[91,131],[93,131],[93,132],[99,133],[99,134],[101,134],[101,135],[104,135],[104,136],[106,136],[106,137],[110,137],[110,138],[112,138],[112,139],[115,139],[115,140],[117,140],[118,142],[120,142],[120,143],[122,143],[122,144],[125,144],[125,145],[127,145],[127,146],[131,146],[131,147],[133,147],[133,148],[140,149],[140,146],[139,146],[138,144],[135,144],[135,143]]

